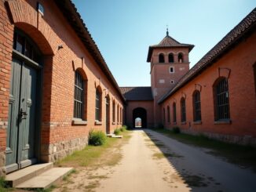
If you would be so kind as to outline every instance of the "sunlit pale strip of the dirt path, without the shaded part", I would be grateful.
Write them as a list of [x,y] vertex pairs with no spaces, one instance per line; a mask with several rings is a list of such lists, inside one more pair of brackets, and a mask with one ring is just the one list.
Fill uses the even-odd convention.
[[189,191],[170,162],[142,130],[132,133],[123,147],[123,159],[96,191]]

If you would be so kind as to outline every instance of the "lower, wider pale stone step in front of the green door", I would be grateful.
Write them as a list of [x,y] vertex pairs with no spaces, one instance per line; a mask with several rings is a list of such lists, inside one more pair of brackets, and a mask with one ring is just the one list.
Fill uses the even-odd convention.
[[53,184],[59,184],[64,176],[67,176],[73,168],[51,168],[43,172],[39,176],[28,179],[24,183],[20,183],[16,188],[19,189],[46,189]]

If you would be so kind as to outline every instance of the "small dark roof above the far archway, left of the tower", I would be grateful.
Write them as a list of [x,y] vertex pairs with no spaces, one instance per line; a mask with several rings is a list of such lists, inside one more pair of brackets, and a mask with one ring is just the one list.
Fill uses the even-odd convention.
[[151,87],[120,87],[126,100],[153,100]]

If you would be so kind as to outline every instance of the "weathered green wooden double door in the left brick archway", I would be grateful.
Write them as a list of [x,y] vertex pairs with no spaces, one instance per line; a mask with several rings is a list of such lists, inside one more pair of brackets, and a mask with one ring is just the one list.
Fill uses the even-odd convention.
[[13,59],[6,142],[6,172],[35,163],[37,71]]

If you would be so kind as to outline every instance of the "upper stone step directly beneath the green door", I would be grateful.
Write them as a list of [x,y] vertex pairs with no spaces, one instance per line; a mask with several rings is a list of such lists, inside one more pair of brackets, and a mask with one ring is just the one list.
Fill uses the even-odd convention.
[[31,165],[6,175],[5,181],[7,181],[11,187],[16,187],[27,179],[31,179],[32,177],[40,175],[42,172],[46,172],[49,168],[53,168],[53,163]]

